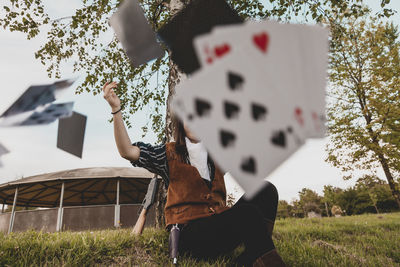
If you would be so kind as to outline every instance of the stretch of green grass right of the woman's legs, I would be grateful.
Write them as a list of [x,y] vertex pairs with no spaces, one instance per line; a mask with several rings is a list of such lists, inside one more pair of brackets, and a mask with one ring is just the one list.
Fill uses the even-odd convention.
[[279,220],[274,241],[291,266],[400,266],[400,213]]

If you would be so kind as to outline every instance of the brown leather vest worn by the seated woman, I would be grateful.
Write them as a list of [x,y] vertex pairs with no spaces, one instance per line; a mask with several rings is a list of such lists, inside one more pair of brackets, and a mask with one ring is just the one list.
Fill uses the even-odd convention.
[[166,144],[169,186],[165,205],[165,223],[184,224],[228,209],[223,174],[215,168],[211,189],[196,167],[179,160],[175,143]]

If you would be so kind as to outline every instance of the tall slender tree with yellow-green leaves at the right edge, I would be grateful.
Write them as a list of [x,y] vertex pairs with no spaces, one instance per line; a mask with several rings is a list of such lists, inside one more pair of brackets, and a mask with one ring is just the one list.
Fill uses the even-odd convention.
[[[341,26],[344,25],[344,26]],[[400,207],[400,41],[377,18],[330,20],[328,158],[350,173],[380,166]]]

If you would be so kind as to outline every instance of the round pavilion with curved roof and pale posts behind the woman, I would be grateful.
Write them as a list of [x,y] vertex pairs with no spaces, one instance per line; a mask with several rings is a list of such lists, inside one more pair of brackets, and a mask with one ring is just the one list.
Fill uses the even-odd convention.
[[[100,167],[45,173],[1,184],[0,231],[131,227],[153,177],[143,168]],[[10,213],[3,212],[4,204],[13,206]],[[48,209],[16,211],[16,206]],[[148,217],[146,225],[154,225],[153,207]]]

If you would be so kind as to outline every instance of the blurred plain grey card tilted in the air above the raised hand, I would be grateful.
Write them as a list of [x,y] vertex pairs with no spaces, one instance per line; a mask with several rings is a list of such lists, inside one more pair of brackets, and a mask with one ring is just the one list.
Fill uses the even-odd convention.
[[136,0],[124,0],[110,18],[110,24],[135,68],[164,55]]

